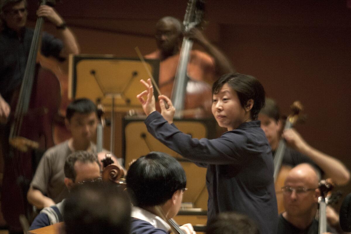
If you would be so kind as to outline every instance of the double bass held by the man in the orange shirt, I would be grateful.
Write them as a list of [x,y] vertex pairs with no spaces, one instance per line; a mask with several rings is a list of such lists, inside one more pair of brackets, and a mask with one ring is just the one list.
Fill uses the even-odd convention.
[[[189,0],[184,16],[185,32],[200,25],[204,15],[204,1]],[[203,118],[211,116],[212,92],[203,81],[195,81],[187,75],[187,66],[193,40],[184,36],[180,49],[179,62],[173,83],[160,86],[163,94],[170,96],[176,109],[174,118]]]

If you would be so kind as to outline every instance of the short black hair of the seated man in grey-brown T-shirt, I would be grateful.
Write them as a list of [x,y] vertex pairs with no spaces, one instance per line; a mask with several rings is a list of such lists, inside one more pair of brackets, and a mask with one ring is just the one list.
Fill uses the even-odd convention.
[[71,120],[72,116],[75,113],[90,114],[92,112],[97,113],[97,107],[94,104],[94,102],[92,102],[90,99],[87,99],[87,98],[79,98],[72,101],[67,106],[66,118],[68,120]]

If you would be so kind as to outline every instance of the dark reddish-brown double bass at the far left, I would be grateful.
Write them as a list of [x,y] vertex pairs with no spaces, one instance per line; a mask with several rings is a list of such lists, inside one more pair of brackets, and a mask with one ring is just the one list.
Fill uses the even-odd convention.
[[[46,3],[41,1],[41,5]],[[10,102],[15,111],[5,127],[4,135],[8,138],[2,142],[5,163],[1,209],[11,231],[22,230],[20,216],[30,220],[32,206],[26,194],[35,170],[33,165],[36,158],[54,145],[52,126],[60,106],[58,79],[37,65],[43,22],[42,17],[37,19],[21,87]]]

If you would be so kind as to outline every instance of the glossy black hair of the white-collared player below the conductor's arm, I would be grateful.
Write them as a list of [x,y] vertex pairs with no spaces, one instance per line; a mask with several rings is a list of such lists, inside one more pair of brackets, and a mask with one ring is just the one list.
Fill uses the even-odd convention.
[[133,162],[126,179],[134,205],[139,207],[163,205],[186,186],[183,167],[161,152],[151,152]]

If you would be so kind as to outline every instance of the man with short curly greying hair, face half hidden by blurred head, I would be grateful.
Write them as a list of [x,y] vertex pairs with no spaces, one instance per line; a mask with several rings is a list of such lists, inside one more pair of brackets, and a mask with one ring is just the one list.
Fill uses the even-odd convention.
[[[98,157],[92,152],[75,151],[66,158],[64,172],[64,181],[68,190],[71,190],[80,182],[100,178]],[[42,209],[40,214],[35,217],[29,230],[62,222],[65,201],[66,199],[56,205]]]

